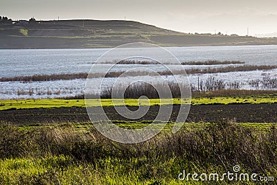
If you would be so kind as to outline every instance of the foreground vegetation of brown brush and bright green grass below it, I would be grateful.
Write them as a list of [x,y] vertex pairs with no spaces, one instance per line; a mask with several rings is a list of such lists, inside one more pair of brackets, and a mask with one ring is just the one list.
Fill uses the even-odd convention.
[[[230,121],[186,125],[138,144],[106,139],[92,126],[0,126],[0,184],[199,184],[179,173],[276,177],[277,132]],[[226,184],[204,182],[203,184]],[[254,184],[254,182],[234,182]]]

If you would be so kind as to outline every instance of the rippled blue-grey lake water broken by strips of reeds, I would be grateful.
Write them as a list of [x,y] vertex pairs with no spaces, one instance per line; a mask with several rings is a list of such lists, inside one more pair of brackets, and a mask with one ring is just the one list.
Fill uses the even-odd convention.
[[[205,61],[205,60],[239,60],[251,65],[276,65],[277,46],[197,46],[197,47],[168,47],[180,62]],[[123,49],[132,55],[134,49]],[[19,49],[0,50],[0,78],[12,76],[32,76],[35,74],[54,73],[88,73],[93,62],[109,49]],[[117,60],[118,56],[114,56]],[[172,58],[166,58],[172,61]],[[105,64],[103,64],[105,65]],[[118,65],[114,70],[126,71],[138,65]],[[159,65],[145,65],[150,69],[162,71]],[[217,66],[186,66],[190,68],[222,67]],[[102,68],[99,68],[101,72]],[[263,76],[277,76],[276,69],[269,71],[249,71],[213,74],[217,79],[232,82],[239,80],[247,84],[249,80],[262,79]],[[199,75],[206,79],[211,74]],[[198,75],[190,76],[190,81],[195,85]],[[0,82],[0,98],[53,98],[58,96],[73,96],[82,94],[85,80],[57,80],[49,82]],[[249,85],[242,86],[251,89]],[[32,95],[24,91],[34,91]],[[22,93],[20,93],[22,92]]]

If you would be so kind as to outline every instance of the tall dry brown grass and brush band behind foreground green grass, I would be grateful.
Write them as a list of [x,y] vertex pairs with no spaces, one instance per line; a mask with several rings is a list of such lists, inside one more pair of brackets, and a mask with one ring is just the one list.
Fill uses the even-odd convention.
[[[48,125],[22,130],[0,125],[0,158],[65,155],[94,165],[99,159],[145,159],[156,164],[177,158],[202,167],[240,164],[255,173],[274,171],[277,164],[277,130],[256,130],[231,121],[203,123],[195,129],[183,128],[177,134],[164,131],[149,141],[123,144],[111,141],[93,127],[82,132],[73,124]],[[143,161],[142,161],[143,162]],[[176,164],[181,165],[181,164]],[[172,166],[174,168],[174,166]]]

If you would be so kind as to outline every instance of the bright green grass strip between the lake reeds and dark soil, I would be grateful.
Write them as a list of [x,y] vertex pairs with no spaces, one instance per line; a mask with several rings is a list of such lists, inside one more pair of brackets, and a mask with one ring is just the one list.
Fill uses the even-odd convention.
[[[180,105],[188,103],[182,99],[150,99],[137,100],[111,100],[111,99],[91,99],[87,100],[87,106],[138,106],[138,105]],[[191,105],[215,105],[215,104],[241,104],[241,103],[277,103],[277,95],[274,96],[240,96],[240,97],[214,97],[214,98],[193,98]],[[0,100],[0,110],[5,109],[35,109],[35,108],[57,108],[57,107],[85,107],[85,101],[63,100],[63,99],[37,99],[37,100]]]

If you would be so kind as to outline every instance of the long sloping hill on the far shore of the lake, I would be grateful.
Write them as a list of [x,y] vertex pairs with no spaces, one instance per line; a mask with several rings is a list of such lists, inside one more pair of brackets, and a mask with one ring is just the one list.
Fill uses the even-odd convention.
[[136,21],[14,21],[0,24],[0,49],[69,49],[114,47],[129,42],[159,46],[277,44],[277,38],[186,34]]

